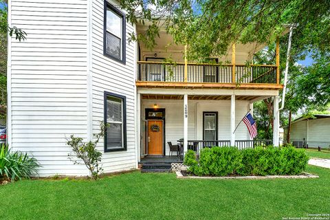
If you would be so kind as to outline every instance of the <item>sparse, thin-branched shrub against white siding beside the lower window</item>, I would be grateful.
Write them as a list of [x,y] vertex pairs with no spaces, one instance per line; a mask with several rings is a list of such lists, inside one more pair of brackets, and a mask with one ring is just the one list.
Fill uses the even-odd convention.
[[[69,159],[74,162],[74,164],[81,164],[78,159],[83,160],[85,166],[89,169],[92,179],[98,179],[98,176],[102,172],[102,167],[99,166],[99,162],[102,159],[102,153],[96,149],[100,137],[104,136],[105,125],[101,122],[100,133],[94,134],[95,140],[89,142],[83,142],[82,137],[74,137],[70,135],[67,139],[67,145],[72,147],[73,153],[69,153]],[[78,159],[76,159],[78,158]]]

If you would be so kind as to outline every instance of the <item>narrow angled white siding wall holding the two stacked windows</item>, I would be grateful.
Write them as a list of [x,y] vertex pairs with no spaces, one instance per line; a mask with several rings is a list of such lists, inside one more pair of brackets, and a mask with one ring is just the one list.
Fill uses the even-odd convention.
[[[113,2],[111,2],[113,3]],[[118,3],[115,3],[118,5]],[[104,142],[100,140],[98,149],[102,151],[104,172],[129,170],[136,167],[135,153],[135,43],[129,44],[129,32],[134,27],[126,23],[126,64],[123,65],[103,55],[103,12],[104,2],[93,1],[92,25],[92,98],[93,132],[99,132],[100,121],[104,121],[104,91],[126,96],[127,151],[104,153]]]

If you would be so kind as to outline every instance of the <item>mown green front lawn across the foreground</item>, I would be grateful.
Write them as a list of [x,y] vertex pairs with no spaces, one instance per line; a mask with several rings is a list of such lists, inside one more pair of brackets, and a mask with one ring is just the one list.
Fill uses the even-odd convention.
[[330,169],[318,179],[177,179],[126,173],[0,186],[0,219],[282,219],[329,213]]

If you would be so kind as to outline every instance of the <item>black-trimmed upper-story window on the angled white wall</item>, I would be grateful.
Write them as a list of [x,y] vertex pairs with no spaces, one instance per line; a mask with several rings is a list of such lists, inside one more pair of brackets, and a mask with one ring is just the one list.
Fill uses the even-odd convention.
[[104,0],[104,56],[125,63],[125,15]]

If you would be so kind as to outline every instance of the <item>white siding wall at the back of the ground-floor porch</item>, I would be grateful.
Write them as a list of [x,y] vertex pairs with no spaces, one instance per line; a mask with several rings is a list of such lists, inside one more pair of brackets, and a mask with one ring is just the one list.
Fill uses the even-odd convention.
[[[167,142],[177,143],[184,137],[184,100],[142,100],[142,120],[145,109],[165,109],[166,155],[169,153]],[[236,124],[247,113],[248,101],[236,101]],[[203,140],[203,111],[218,112],[218,140],[230,140],[230,101],[188,100],[188,140]],[[236,130],[236,140],[250,140],[245,124]]]

